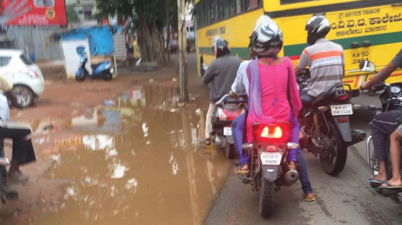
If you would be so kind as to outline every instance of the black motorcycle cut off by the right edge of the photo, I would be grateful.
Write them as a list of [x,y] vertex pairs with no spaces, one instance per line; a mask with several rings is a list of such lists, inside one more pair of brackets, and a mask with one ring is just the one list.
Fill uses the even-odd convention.
[[[368,64],[372,64],[371,62],[368,61]],[[371,67],[375,66],[372,64]],[[385,83],[380,83],[374,86],[374,91],[382,91],[383,92],[380,94],[380,102],[381,106],[377,105],[368,105],[368,110],[375,111],[376,114],[380,113],[385,113],[387,111],[392,111],[392,110],[402,110],[402,83],[393,83],[393,84],[385,84]],[[398,123],[402,123],[402,118],[399,118]],[[367,143],[366,143],[366,159],[367,159],[367,164],[371,168],[372,174],[375,176],[379,172],[379,163],[378,160],[374,157],[371,157],[371,149],[370,149],[370,144],[372,142],[372,137],[367,138]],[[391,168],[391,160],[390,160],[390,154],[389,154],[389,140],[387,143],[388,147],[386,149],[386,160],[385,160],[385,166],[386,166],[386,173],[388,179],[392,177],[392,168]],[[402,149],[402,146],[401,146]],[[400,171],[402,173],[402,164],[400,165]],[[378,188],[380,186],[379,183],[374,183],[370,182],[371,187],[373,188]],[[382,194],[385,196],[389,196],[392,194],[398,194],[402,196],[402,189],[396,189],[396,190],[381,190],[378,189],[378,191],[381,191]]]

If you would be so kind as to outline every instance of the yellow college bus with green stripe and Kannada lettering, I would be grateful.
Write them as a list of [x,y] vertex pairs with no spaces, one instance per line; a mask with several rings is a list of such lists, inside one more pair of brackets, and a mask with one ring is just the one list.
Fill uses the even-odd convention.
[[[249,58],[249,36],[261,15],[270,16],[284,36],[282,56],[297,63],[307,45],[305,25],[313,15],[325,15],[332,30],[327,39],[345,49],[343,82],[358,91],[373,75],[356,71],[359,63],[372,61],[377,70],[386,66],[402,48],[402,0],[195,0],[196,53],[200,64],[214,60],[211,42],[225,38],[232,54]],[[402,70],[388,83],[401,82]]]

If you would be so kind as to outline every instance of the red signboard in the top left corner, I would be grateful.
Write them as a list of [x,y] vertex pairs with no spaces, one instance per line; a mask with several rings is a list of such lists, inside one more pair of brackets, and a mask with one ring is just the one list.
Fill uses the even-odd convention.
[[3,27],[67,26],[64,0],[0,0],[0,25]]

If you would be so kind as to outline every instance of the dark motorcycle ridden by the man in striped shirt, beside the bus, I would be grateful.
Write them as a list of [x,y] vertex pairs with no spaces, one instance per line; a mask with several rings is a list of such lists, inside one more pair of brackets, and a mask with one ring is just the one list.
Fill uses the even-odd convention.
[[[296,80],[300,93],[307,91],[311,81],[310,71],[305,69]],[[305,136],[300,139],[300,147],[315,156],[320,155],[322,168],[330,175],[339,174],[345,167],[347,148],[366,139],[362,130],[350,130],[349,116],[360,107],[352,105],[351,98],[350,85],[334,84],[299,114]]]

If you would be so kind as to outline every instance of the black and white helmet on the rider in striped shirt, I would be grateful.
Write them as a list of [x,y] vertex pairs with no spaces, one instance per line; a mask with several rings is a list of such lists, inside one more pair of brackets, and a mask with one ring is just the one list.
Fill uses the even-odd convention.
[[314,45],[319,38],[324,38],[331,30],[330,22],[324,16],[313,16],[307,21],[307,42]]

